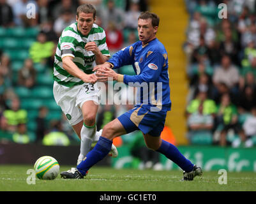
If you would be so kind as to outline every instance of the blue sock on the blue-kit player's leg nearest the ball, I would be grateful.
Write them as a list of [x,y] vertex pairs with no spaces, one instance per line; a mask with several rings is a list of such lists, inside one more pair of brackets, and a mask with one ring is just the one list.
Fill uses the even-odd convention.
[[82,175],[86,175],[87,170],[89,170],[91,166],[98,163],[98,161],[102,160],[105,156],[107,156],[107,154],[109,154],[111,147],[112,140],[100,136],[100,139],[96,143],[93,150],[88,152],[86,159],[81,161],[81,163],[77,166],[77,170],[79,170]]

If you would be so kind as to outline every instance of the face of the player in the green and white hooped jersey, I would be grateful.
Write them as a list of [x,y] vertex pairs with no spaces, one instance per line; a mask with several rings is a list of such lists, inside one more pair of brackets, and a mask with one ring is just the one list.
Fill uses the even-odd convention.
[[93,27],[96,19],[93,18],[93,13],[79,13],[77,16],[77,27],[84,36],[87,36]]

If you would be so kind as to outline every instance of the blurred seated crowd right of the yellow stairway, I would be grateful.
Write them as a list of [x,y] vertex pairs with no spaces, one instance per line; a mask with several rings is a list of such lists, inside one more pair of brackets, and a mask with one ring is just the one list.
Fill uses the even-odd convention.
[[[188,139],[192,144],[253,147],[256,145],[255,0],[185,3],[190,15],[183,46],[190,82],[186,107]],[[226,6],[218,8],[220,3]],[[219,18],[225,17],[225,11],[227,18]]]

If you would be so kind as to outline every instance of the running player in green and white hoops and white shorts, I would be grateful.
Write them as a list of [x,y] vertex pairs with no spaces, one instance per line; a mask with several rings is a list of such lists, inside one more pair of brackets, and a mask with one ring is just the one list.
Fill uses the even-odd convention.
[[[64,29],[54,60],[54,99],[61,106],[75,133],[81,139],[77,164],[86,157],[91,144],[98,141],[96,113],[98,110],[97,77],[93,67],[110,57],[105,31],[94,24],[96,10],[91,4],[77,8],[77,22]],[[110,151],[117,156],[114,145]]]

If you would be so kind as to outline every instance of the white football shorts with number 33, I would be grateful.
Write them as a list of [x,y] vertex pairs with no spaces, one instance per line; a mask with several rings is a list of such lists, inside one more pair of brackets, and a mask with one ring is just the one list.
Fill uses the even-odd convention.
[[84,83],[73,87],[65,87],[54,82],[53,93],[57,105],[61,107],[71,126],[83,120],[81,108],[84,102],[94,101],[97,105],[99,104],[97,82],[95,84]]

